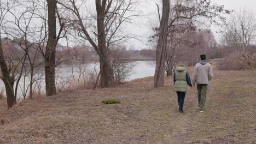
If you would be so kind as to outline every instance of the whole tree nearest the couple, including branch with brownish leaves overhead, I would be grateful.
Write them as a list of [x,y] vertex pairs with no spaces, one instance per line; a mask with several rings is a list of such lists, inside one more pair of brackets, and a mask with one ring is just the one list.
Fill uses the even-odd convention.
[[[185,21],[185,25],[195,27],[197,23],[203,23],[199,20],[199,17],[207,19],[209,22],[218,23],[217,18],[220,21],[225,21],[225,18],[220,13],[229,14],[229,10],[225,10],[223,5],[212,4],[211,1],[182,1],[171,5],[171,9],[176,11],[173,17],[168,19],[170,12],[170,1],[162,1],[162,18],[160,22],[159,41],[156,50],[156,69],[154,75],[154,87],[164,86],[164,68],[165,68],[165,51],[166,51],[166,38],[167,28],[171,28],[176,25],[183,25],[179,23],[180,20]],[[168,5],[168,6],[167,6]],[[167,16],[167,15],[168,16]],[[160,14],[159,14],[160,19]],[[166,22],[167,21],[167,22]],[[164,26],[163,26],[164,25]],[[167,27],[167,28],[166,28]],[[164,31],[165,30],[165,31]],[[165,41],[162,41],[165,40]]]

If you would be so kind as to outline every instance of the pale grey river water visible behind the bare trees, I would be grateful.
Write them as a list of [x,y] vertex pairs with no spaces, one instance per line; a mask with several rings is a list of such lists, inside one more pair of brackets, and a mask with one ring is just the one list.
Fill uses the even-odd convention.
[[[73,69],[73,70],[72,70]],[[78,79],[80,81],[83,81],[83,78],[88,81],[90,80],[91,74],[95,70],[98,73],[98,64],[83,64],[83,65],[60,65],[59,67],[56,67],[56,74],[55,74],[55,80],[56,80],[56,87],[63,88],[67,86],[68,83],[74,82],[74,79],[77,81]],[[73,74],[72,74],[73,71]],[[139,79],[143,77],[153,76],[155,73],[155,61],[135,61],[135,67],[132,70],[132,74],[126,78],[125,81],[131,81],[134,79]],[[84,74],[84,75],[83,75]],[[80,76],[80,78],[79,78]],[[29,93],[29,79],[30,76],[22,76],[19,87],[17,91],[17,97],[23,98],[23,95],[25,95],[26,91],[27,94]],[[37,68],[34,70],[34,79],[39,79],[37,82],[34,83],[33,88],[38,91],[40,89],[41,92],[45,92],[45,82],[44,82],[44,68]],[[95,76],[96,77],[96,76]],[[16,83],[15,83],[16,85]],[[14,86],[15,86],[14,85]],[[0,91],[4,91],[4,83],[2,80],[0,80]],[[4,92],[5,94],[5,92]]]

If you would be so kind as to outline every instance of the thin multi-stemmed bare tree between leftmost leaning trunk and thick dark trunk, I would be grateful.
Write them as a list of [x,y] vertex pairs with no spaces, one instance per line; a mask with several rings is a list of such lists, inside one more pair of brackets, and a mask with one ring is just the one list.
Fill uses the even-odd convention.
[[[19,47],[24,51],[23,53],[25,54],[24,60],[22,62],[21,70],[18,71],[20,75],[16,80],[15,98],[17,97],[19,81],[21,80],[21,76],[23,75],[23,71],[24,71],[25,72],[24,83],[28,73],[31,74],[30,83],[29,83],[29,88],[30,88],[29,98],[32,99],[32,94],[33,94],[32,87],[34,82],[33,70],[34,70],[34,67],[36,67],[35,62],[36,62],[37,53],[38,53],[38,50],[36,49],[38,48],[38,45],[34,41],[31,42],[30,40],[32,40],[32,38],[36,35],[36,33],[38,33],[36,29],[32,28],[34,25],[31,24],[33,23],[36,3],[35,1],[31,1],[31,2],[21,1],[21,2],[17,2],[16,4],[19,5],[18,8],[14,8],[14,10],[9,10],[9,13],[11,16],[13,16],[14,21],[10,22],[11,27],[5,28],[5,34],[9,35],[9,37],[13,37],[14,43],[19,45]],[[19,11],[20,8],[22,8],[22,11]],[[24,67],[27,59],[31,66],[29,70],[27,70]],[[22,93],[24,94],[24,99],[26,98],[26,92],[27,91],[25,91],[25,85],[24,85],[22,89]]]

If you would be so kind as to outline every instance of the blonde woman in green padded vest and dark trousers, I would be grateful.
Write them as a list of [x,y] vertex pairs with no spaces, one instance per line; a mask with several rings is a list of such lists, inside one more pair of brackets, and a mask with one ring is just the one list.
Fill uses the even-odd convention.
[[187,84],[192,87],[189,74],[184,67],[182,62],[178,63],[178,67],[175,70],[173,75],[174,82],[174,91],[177,92],[178,95],[178,103],[179,103],[179,112],[183,112],[183,104],[185,95],[187,92]]

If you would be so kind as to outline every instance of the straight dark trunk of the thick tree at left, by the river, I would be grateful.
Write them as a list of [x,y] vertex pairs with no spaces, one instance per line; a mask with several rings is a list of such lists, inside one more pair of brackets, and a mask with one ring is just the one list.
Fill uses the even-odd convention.
[[47,0],[48,3],[48,41],[45,51],[45,88],[46,95],[55,95],[55,51],[56,51],[56,0]]

